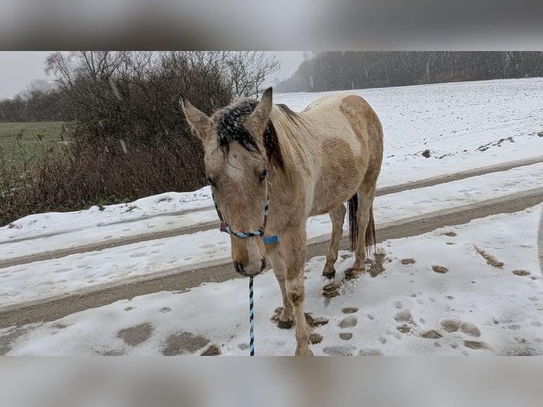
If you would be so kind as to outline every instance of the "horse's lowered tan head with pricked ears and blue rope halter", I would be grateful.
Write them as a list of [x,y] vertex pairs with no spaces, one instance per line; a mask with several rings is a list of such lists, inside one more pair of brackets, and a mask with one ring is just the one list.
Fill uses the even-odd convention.
[[230,233],[235,270],[244,276],[259,274],[266,266],[262,240],[268,198],[264,131],[271,113],[271,88],[260,101],[235,101],[211,118],[186,99],[181,106],[203,143],[206,175],[223,228]]

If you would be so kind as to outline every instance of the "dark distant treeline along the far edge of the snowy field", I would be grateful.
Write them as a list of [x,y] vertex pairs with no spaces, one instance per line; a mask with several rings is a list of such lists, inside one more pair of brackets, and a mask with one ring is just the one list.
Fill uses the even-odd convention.
[[543,76],[543,52],[321,51],[276,91],[336,91]]

